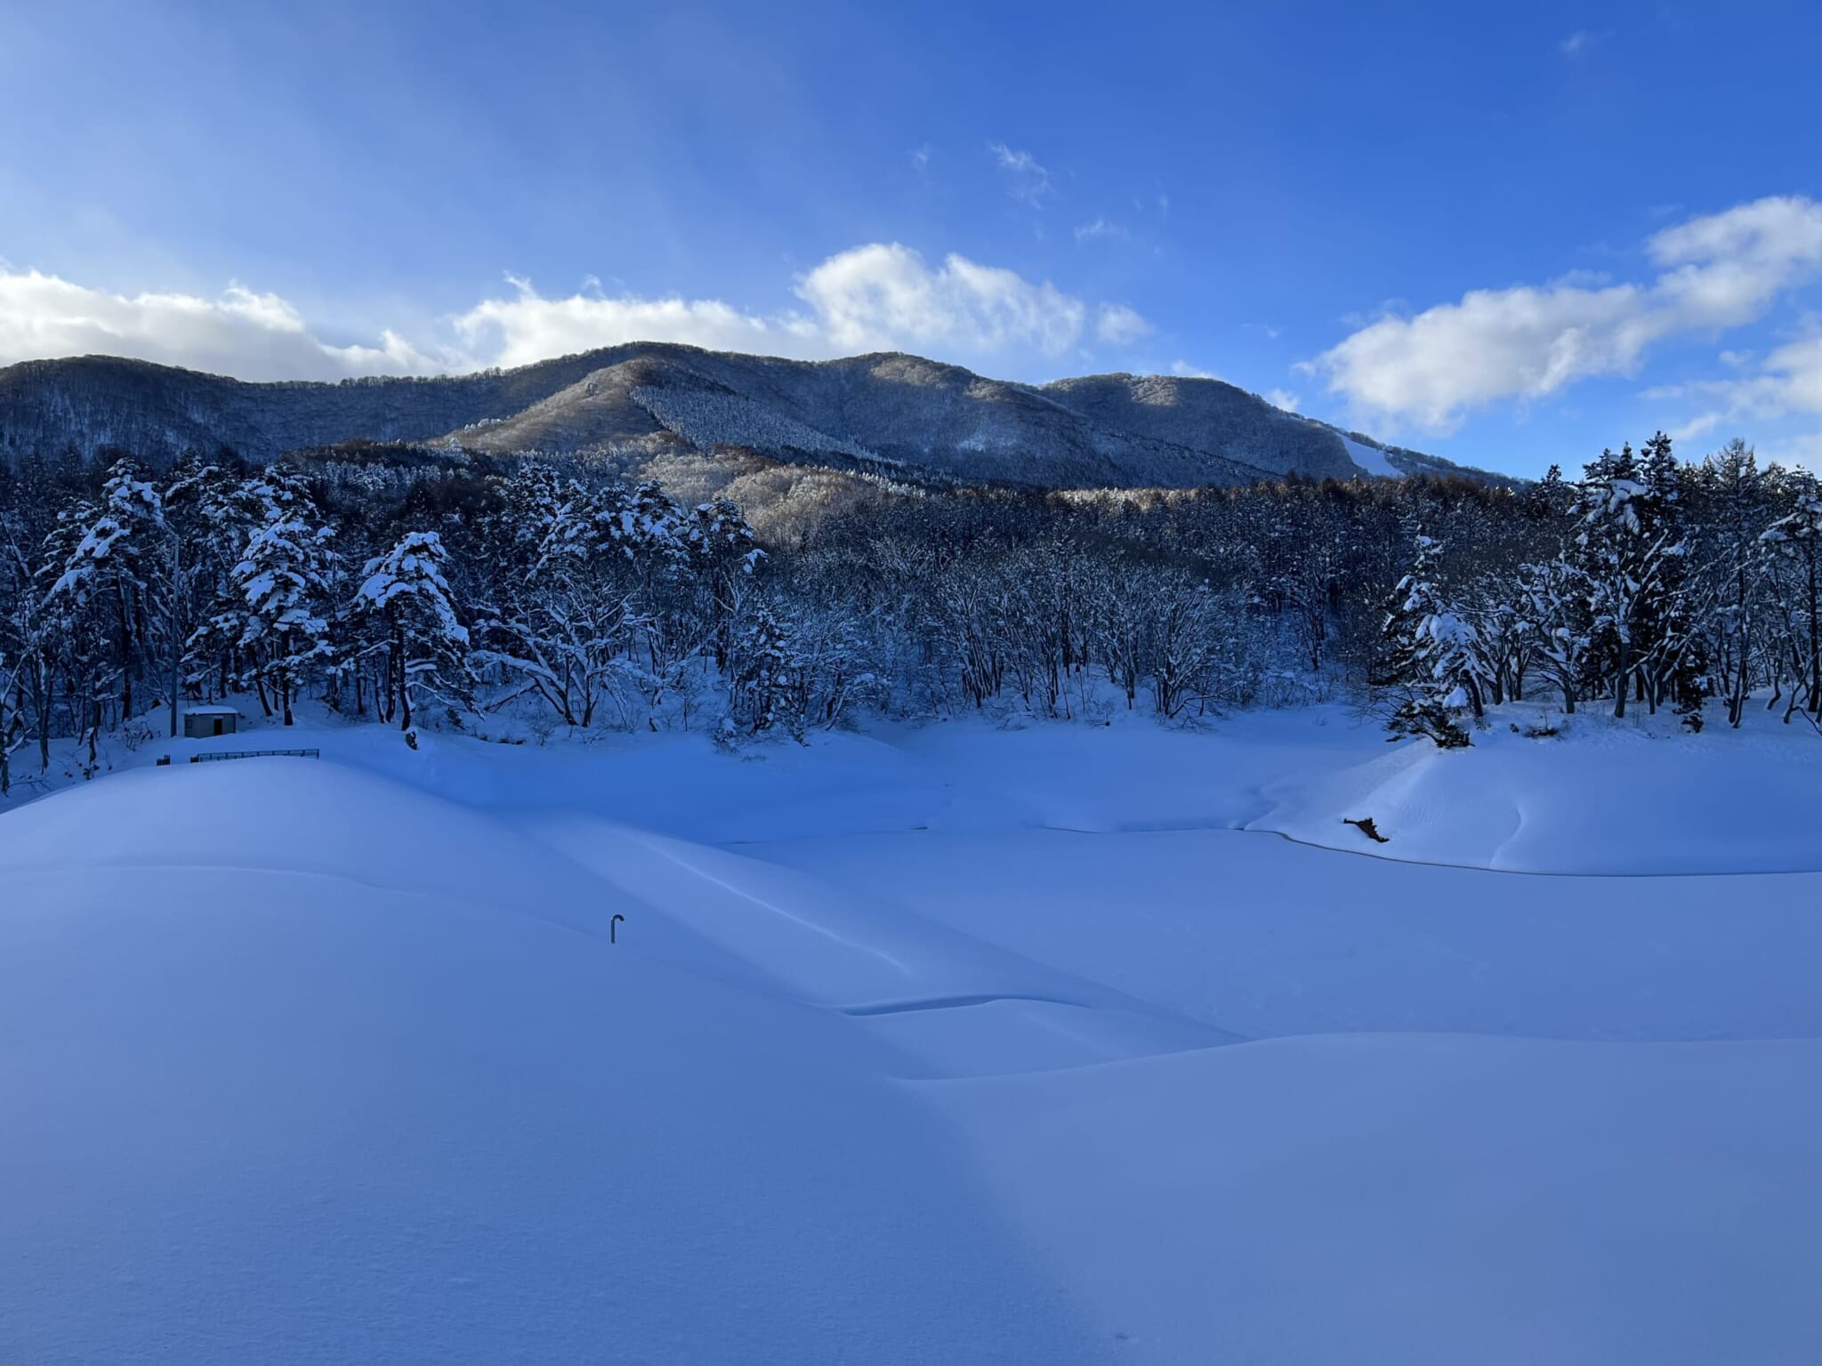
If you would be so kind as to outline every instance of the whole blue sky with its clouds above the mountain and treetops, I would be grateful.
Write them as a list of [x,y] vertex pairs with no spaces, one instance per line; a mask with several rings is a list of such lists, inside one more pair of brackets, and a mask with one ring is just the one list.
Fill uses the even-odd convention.
[[1822,463],[1818,55],[1795,4],[5,5],[0,362],[902,348]]

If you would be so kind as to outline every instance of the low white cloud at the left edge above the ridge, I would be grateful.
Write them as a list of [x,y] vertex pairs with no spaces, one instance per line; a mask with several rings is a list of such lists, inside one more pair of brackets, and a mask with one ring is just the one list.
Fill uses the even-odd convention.
[[377,346],[319,341],[284,299],[239,284],[219,299],[122,295],[35,270],[0,270],[0,364],[89,353],[248,379],[430,373],[446,364],[446,357],[425,355],[394,331],[383,331]]

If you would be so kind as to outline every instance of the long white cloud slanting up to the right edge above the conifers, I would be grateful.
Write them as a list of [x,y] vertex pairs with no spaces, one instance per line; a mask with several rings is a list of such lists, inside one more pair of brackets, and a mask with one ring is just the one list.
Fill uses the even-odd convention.
[[1822,266],[1822,204],[1762,199],[1651,237],[1647,284],[1565,277],[1474,290],[1416,317],[1370,322],[1305,368],[1383,423],[1448,432],[1498,399],[1541,399],[1580,379],[1633,373],[1658,341],[1760,317]]

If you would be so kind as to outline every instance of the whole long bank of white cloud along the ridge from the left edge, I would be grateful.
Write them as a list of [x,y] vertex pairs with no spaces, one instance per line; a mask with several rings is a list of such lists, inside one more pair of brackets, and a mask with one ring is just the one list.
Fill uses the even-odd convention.
[[[898,242],[840,251],[802,275],[804,308],[740,310],[720,299],[545,297],[530,280],[446,319],[434,342],[392,330],[374,344],[324,341],[286,299],[239,284],[219,299],[118,295],[0,266],[0,366],[84,353],[131,355],[241,379],[343,379],[517,366],[632,341],[820,359],[911,350],[960,361],[1055,359],[1084,335],[1090,306],[1049,280],[949,255],[940,264]],[[1128,344],[1150,324],[1102,306],[1097,335]]]

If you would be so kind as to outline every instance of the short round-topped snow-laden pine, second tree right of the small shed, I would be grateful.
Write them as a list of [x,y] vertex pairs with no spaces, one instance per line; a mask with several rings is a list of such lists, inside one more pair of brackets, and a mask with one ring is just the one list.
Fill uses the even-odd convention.
[[[456,614],[445,566],[448,552],[435,532],[408,532],[366,563],[350,605],[364,628],[363,654],[384,659],[384,719],[414,734],[425,699],[456,714],[474,703],[468,672],[468,628]],[[414,708],[414,701],[419,703]]]

